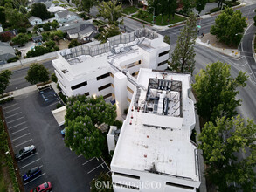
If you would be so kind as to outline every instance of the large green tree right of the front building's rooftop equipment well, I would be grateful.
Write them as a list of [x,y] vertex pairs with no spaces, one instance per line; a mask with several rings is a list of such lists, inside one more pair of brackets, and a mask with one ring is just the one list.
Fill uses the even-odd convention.
[[246,86],[246,72],[239,72],[233,79],[231,66],[221,62],[207,65],[206,69],[197,74],[193,89],[197,95],[197,114],[204,122],[225,116],[232,118],[236,115],[236,107],[240,106],[241,100],[236,99],[239,86]]

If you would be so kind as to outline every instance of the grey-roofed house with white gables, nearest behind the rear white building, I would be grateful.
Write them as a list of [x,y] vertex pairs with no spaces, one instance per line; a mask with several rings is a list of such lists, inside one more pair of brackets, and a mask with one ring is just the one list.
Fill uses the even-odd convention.
[[66,32],[68,38],[80,38],[83,41],[92,40],[98,33],[97,28],[93,24],[88,24],[85,21],[59,27],[58,30]]

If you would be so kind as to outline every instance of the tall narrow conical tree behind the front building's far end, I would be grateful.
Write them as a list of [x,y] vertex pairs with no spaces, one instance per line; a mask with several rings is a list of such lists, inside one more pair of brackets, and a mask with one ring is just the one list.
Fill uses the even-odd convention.
[[193,13],[187,20],[176,41],[175,50],[171,54],[170,69],[179,72],[194,72],[195,50],[193,45],[197,38],[197,19]]

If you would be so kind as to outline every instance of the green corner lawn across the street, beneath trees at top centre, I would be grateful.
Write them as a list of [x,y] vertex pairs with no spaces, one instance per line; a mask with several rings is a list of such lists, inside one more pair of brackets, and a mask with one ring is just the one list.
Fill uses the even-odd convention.
[[[149,23],[153,23],[153,18],[152,18],[152,14],[149,14],[148,17],[145,17],[145,18],[140,18],[138,17],[137,14],[133,15],[133,17],[136,17],[136,18],[140,18],[144,21],[147,21]],[[170,17],[170,22],[169,24],[176,24],[178,22],[181,22],[181,21],[184,21],[186,20],[185,17],[180,17],[180,16],[177,16],[175,15],[174,18]],[[161,22],[162,21],[162,16],[156,16],[156,21],[155,21],[155,24],[156,25],[160,25],[160,26],[164,26],[164,25],[167,25],[168,24],[168,16],[167,15],[164,15],[163,16],[163,23]]]

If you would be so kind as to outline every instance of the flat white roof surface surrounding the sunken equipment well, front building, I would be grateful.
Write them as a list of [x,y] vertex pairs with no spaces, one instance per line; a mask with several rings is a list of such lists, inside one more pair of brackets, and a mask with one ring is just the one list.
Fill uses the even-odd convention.
[[137,83],[143,87],[142,97],[148,91],[149,79],[156,78],[182,82],[183,115],[175,117],[135,110],[133,104],[138,90],[135,91],[111,166],[147,172],[154,165],[159,173],[199,181],[195,160],[197,147],[190,142],[190,127],[195,125],[194,103],[188,98],[190,74],[166,73],[163,78],[163,72],[141,69]]

